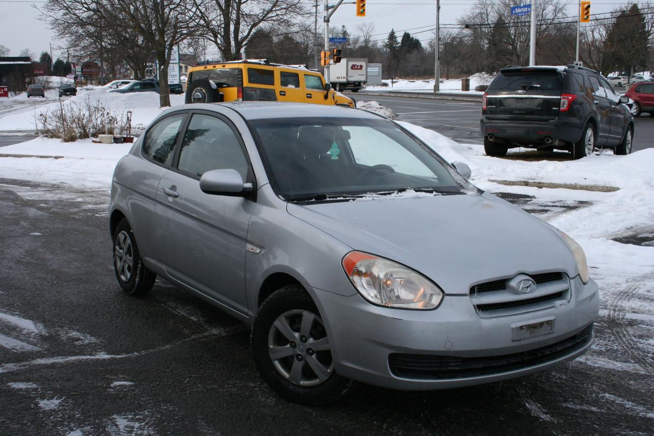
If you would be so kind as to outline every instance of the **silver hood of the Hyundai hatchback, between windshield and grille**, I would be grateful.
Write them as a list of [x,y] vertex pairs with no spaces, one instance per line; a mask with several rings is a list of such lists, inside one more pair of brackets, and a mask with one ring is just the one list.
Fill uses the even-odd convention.
[[553,227],[492,194],[289,203],[287,210],[352,249],[421,272],[446,294],[520,272],[577,274]]

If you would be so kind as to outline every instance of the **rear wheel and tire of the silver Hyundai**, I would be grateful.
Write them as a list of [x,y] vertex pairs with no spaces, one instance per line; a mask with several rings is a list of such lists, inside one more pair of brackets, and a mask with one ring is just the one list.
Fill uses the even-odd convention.
[[[121,238],[123,242],[121,243],[118,238]],[[124,238],[129,239],[129,248]],[[145,264],[143,264],[139,247],[136,244],[136,238],[134,238],[134,232],[129,227],[126,218],[123,218],[118,223],[118,226],[116,226],[112,242],[114,273],[116,273],[118,284],[129,295],[145,295],[154,286],[157,275],[148,270]],[[129,252],[131,251],[131,268],[129,268],[127,261],[122,261],[124,255],[121,256],[119,254],[121,250],[117,249],[117,247],[120,247],[121,244],[123,247],[122,252],[127,254],[127,259],[129,259]],[[128,249],[126,250],[125,248]]]

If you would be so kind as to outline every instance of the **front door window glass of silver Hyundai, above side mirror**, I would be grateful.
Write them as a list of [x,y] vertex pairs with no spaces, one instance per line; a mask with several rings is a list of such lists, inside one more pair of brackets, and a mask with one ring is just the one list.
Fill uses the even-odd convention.
[[226,122],[196,114],[184,134],[179,170],[200,176],[210,170],[231,168],[247,179],[249,166],[241,143]]

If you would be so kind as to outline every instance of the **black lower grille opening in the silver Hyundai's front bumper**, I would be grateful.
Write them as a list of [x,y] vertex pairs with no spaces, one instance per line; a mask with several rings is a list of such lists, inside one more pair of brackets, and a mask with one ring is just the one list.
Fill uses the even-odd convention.
[[478,377],[540,365],[581,350],[593,338],[593,324],[555,344],[525,352],[488,357],[400,354],[388,356],[390,372],[402,378],[440,380]]

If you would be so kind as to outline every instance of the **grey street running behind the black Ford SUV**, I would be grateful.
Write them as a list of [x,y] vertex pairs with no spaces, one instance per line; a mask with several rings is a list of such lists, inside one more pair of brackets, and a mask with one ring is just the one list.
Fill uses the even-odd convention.
[[[479,132],[481,102],[429,100],[389,96],[350,94],[357,102],[377,101],[400,115],[402,121],[413,122],[435,130],[459,143],[483,144]],[[654,147],[654,117],[641,115],[634,119],[633,151]]]

